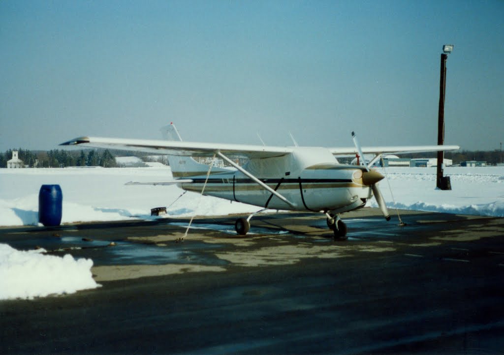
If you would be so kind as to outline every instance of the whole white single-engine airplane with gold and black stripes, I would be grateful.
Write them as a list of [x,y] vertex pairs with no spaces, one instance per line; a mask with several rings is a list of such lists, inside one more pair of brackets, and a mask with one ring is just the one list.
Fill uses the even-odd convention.
[[[370,168],[382,155],[459,149],[458,146],[360,147],[354,132],[355,147],[351,148],[193,143],[182,141],[173,123],[161,130],[167,140],[79,137],[60,145],[168,155],[174,180],[130,184],[176,184],[187,191],[263,207],[248,218],[236,220],[235,229],[240,235],[247,234],[250,219],[257,213],[283,209],[325,214],[335,239],[347,239],[347,228],[339,215],[363,207],[373,195],[384,217],[390,220],[377,186],[384,176]],[[355,154],[360,157],[360,165],[340,164],[335,158]],[[364,154],[373,154],[374,158],[365,162]],[[214,168],[192,157],[219,157],[234,168]],[[232,158],[248,161],[240,166]]]

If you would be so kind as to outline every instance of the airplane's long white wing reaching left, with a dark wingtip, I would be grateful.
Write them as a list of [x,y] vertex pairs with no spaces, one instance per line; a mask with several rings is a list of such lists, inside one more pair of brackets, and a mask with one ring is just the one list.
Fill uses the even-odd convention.
[[290,147],[103,137],[79,137],[60,144],[60,146],[76,145],[193,157],[211,157],[220,152],[229,157],[249,159],[281,157],[294,150]]

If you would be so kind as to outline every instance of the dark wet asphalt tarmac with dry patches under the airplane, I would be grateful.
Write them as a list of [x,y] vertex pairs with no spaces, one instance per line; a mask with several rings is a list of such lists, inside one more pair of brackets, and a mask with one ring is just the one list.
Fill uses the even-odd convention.
[[0,353],[502,353],[504,219],[344,217],[347,241],[294,213],[0,229],[102,285],[0,301]]

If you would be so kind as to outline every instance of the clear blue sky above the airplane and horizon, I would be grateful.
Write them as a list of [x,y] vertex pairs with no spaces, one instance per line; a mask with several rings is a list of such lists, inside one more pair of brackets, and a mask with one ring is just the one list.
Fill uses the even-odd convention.
[[81,135],[292,145],[504,141],[503,1],[2,1],[0,151]]

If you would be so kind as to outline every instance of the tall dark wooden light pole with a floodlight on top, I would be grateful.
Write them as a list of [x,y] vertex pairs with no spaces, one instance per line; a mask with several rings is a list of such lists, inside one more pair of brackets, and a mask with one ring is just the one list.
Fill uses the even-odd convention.
[[[443,46],[443,54],[441,54],[441,70],[439,79],[439,110],[437,116],[437,145],[442,146],[445,143],[445,93],[446,93],[446,60],[448,54],[453,50],[453,44],[445,44]],[[436,187],[441,190],[451,190],[452,184],[450,176],[443,176],[445,152],[437,152],[437,178]]]

